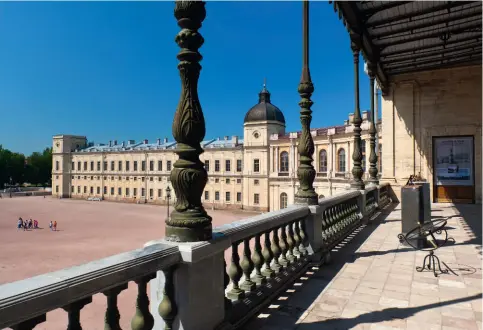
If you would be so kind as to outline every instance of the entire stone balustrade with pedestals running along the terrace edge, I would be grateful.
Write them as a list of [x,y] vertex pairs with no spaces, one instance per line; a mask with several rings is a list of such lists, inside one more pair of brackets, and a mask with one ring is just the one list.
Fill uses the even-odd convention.
[[310,264],[328,261],[332,249],[391,201],[389,193],[389,184],[345,191],[315,206],[291,205],[216,227],[210,241],[152,241],[1,285],[0,329],[34,329],[57,308],[67,312],[68,329],[81,329],[81,310],[97,293],[107,297],[104,328],[120,329],[117,298],[130,281],[138,289],[134,330],[239,328]]

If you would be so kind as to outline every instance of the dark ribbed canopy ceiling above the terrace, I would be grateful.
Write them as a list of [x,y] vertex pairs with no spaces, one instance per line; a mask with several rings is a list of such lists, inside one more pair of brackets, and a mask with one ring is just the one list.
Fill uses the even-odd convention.
[[481,64],[480,1],[334,1],[382,86],[394,75]]

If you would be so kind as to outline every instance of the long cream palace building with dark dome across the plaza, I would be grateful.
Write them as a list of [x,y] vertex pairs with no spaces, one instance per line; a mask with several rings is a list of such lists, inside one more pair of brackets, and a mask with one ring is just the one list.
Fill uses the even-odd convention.
[[[345,190],[349,184],[354,144],[352,117],[349,114],[340,126],[311,130],[317,171],[314,187],[320,197]],[[370,113],[364,111],[362,117],[361,149],[366,171]],[[380,128],[378,123],[379,154]],[[299,185],[299,135],[285,131],[284,115],[271,103],[264,86],[258,103],[245,116],[243,138],[225,136],[202,142],[205,152],[200,159],[209,177],[202,196],[205,207],[271,211],[293,203]],[[172,198],[176,198],[169,177],[178,159],[175,149],[176,142],[167,138],[154,143],[129,140],[94,145],[88,144],[85,136],[56,135],[53,196],[166,204],[168,187]]]

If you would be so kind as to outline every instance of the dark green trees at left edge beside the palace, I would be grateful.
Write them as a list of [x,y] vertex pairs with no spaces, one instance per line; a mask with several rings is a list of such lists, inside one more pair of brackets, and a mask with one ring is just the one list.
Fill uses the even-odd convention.
[[45,148],[25,157],[0,145],[0,188],[5,184],[50,185],[52,176],[52,148]]

